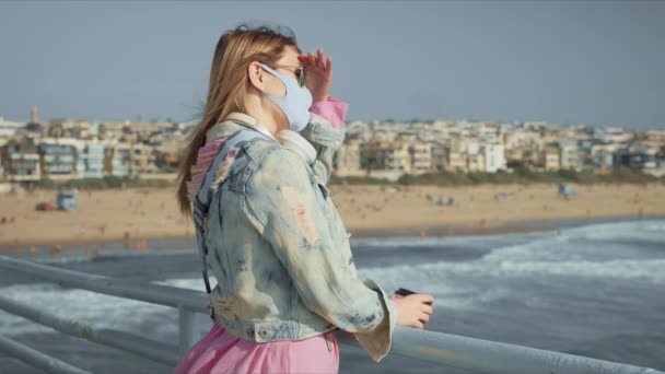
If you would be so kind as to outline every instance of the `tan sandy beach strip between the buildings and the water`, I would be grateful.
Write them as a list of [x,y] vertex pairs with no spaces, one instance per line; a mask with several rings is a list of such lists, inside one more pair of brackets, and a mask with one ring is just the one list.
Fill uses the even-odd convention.
[[[395,231],[457,235],[518,231],[511,222],[652,217],[665,214],[665,185],[573,185],[579,196],[558,197],[556,185],[330,186],[330,197],[355,237]],[[155,237],[194,235],[172,189],[135,188],[79,192],[79,209],[36,211],[56,191],[0,195],[0,246],[127,241],[141,247]],[[453,198],[435,203],[432,196]],[[435,199],[434,199],[435,200]],[[441,230],[432,230],[440,227]],[[526,229],[525,229],[526,230]]]

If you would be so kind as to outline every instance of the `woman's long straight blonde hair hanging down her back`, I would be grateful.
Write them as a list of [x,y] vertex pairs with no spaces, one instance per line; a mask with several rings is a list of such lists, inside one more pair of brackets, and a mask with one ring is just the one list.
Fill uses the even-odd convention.
[[288,27],[250,27],[243,24],[220,37],[212,58],[202,119],[190,132],[190,141],[184,149],[185,157],[178,171],[176,196],[184,214],[191,214],[187,182],[191,178],[191,166],[196,162],[198,150],[206,143],[206,131],[232,112],[246,113],[243,97],[250,84],[247,77],[249,63],[260,61],[275,65],[287,46],[293,46],[301,52],[295,35]]

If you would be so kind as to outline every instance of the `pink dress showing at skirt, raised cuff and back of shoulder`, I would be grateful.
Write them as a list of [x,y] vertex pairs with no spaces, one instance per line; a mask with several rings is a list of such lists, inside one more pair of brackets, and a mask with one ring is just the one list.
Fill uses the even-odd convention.
[[[325,102],[314,103],[310,110],[326,118],[334,128],[340,129],[343,127],[348,107],[347,103],[328,96]],[[219,144],[207,144],[201,148],[201,151],[206,154],[217,153]],[[214,148],[214,150],[210,148]],[[199,161],[197,160],[197,165]],[[211,161],[209,160],[208,164]],[[203,164],[201,164],[201,170],[207,170]],[[196,177],[192,176],[192,179]],[[256,342],[244,340],[226,331],[219,320],[175,369],[176,374],[310,374],[337,373],[338,371],[339,347],[332,331],[303,340]]]

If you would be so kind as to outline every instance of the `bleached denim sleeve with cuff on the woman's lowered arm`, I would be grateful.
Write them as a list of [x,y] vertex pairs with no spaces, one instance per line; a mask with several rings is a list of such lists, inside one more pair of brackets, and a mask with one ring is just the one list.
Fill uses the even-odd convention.
[[[257,161],[243,211],[271,244],[307,308],[357,340],[378,362],[390,350],[396,309],[373,280],[361,281],[342,257],[324,212],[324,196],[305,162],[288,149]],[[339,234],[338,234],[339,235]]]

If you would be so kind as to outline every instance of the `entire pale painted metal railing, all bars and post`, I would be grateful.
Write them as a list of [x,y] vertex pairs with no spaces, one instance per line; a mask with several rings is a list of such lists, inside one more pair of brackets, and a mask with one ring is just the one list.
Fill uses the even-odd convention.
[[[175,366],[178,359],[201,338],[203,329],[199,324],[211,323],[205,307],[208,301],[205,292],[152,283],[138,284],[1,255],[0,268],[28,273],[60,285],[177,308],[179,341],[178,346],[175,346],[128,332],[95,328],[94,324],[80,319],[65,320],[9,297],[0,296],[0,309],[8,313],[51,327],[63,334],[129,351],[164,364]],[[205,317],[202,317],[203,315]],[[338,332],[337,338],[340,343],[360,347],[349,332]],[[0,350],[47,372],[85,373],[7,338],[0,339]],[[481,373],[664,374],[648,367],[401,326],[395,328],[390,353]]]

